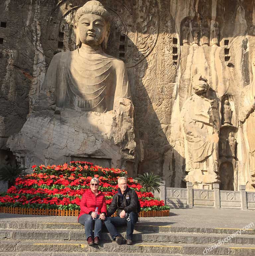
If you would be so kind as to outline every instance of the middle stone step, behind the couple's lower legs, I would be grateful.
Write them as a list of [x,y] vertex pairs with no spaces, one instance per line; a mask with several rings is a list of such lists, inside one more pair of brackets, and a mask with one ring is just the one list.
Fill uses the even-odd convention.
[[[126,232],[121,232],[126,238]],[[10,239],[57,239],[57,240],[85,240],[84,230],[68,229],[0,229],[0,238]],[[171,243],[218,243],[223,241],[228,244],[255,244],[255,235],[231,234],[207,234],[207,233],[171,233],[171,232],[151,232],[134,231],[133,240],[143,242],[171,242]],[[102,240],[110,241],[108,232],[102,232]]]

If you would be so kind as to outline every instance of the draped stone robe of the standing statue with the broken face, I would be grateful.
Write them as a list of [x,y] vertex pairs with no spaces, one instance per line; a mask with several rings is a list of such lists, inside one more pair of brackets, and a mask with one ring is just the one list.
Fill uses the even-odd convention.
[[185,144],[188,158],[187,168],[190,170],[217,171],[213,163],[217,162],[217,133],[212,120],[212,100],[197,94],[186,102],[181,115],[185,133]]

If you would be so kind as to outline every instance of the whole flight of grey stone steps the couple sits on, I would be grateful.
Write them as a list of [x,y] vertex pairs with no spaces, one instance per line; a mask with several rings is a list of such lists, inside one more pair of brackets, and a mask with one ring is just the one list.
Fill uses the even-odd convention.
[[[255,255],[255,229],[135,226],[133,245],[118,245],[103,230],[102,244],[88,246],[83,226],[70,222],[0,222],[0,256],[45,255]],[[126,237],[124,229],[120,232]],[[232,236],[232,237],[231,237]],[[230,237],[230,238],[228,238]],[[213,248],[220,240],[225,244]],[[211,248],[211,249],[210,249]]]

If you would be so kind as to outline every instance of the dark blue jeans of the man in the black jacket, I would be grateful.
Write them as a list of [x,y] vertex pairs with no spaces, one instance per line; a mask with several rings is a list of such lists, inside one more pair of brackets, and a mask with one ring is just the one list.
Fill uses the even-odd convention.
[[137,213],[130,212],[130,221],[127,221],[126,218],[118,217],[107,217],[105,219],[105,226],[107,227],[111,237],[113,240],[115,240],[116,236],[120,236],[120,233],[116,230],[115,226],[123,226],[127,224],[127,239],[131,239],[133,237],[133,231],[134,231],[134,224],[138,220]]

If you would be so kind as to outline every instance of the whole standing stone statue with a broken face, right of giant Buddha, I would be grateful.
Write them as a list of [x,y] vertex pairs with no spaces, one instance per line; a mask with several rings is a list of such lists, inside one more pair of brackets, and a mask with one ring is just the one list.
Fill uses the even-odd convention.
[[[217,100],[209,97],[210,86],[201,75],[193,77],[194,94],[181,111],[185,134],[185,159],[188,175],[185,180],[212,188],[219,183],[218,133],[219,115]],[[207,186],[208,187],[208,186]]]

